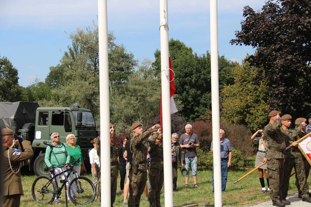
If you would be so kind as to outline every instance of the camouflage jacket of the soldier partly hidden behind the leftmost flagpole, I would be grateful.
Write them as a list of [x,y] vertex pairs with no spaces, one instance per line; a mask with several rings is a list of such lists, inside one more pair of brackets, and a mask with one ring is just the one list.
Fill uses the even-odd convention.
[[[100,162],[100,137],[97,137],[97,155]],[[110,176],[115,176],[119,171],[118,149],[116,141],[113,139],[110,143]]]

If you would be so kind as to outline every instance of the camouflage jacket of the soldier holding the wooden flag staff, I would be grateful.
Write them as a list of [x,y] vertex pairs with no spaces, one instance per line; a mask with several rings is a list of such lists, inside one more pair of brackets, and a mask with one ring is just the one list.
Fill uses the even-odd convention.
[[[290,146],[293,142],[299,139],[298,133],[295,129],[288,129],[287,131],[281,128],[284,134],[286,147]],[[290,149],[284,152],[285,158],[296,158],[301,156],[301,152],[298,147],[292,146]]]

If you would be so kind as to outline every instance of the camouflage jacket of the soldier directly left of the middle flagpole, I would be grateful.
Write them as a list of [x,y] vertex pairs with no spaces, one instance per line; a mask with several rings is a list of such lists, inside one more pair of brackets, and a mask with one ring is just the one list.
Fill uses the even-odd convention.
[[156,141],[159,133],[149,137],[148,152],[150,154],[150,168],[163,170],[163,144]]

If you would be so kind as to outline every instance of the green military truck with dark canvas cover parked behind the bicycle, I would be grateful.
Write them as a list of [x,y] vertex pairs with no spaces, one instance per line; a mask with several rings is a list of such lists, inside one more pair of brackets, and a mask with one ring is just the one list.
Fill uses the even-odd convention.
[[31,142],[34,157],[25,165],[29,165],[29,170],[34,170],[37,176],[50,175],[44,162],[47,145],[43,142],[52,142],[52,133],[57,132],[63,143],[68,134],[74,134],[75,144],[81,147],[86,164],[93,139],[98,134],[91,110],[80,108],[78,103],[72,107],[39,107],[36,102],[0,102],[0,128],[12,129],[16,135]]

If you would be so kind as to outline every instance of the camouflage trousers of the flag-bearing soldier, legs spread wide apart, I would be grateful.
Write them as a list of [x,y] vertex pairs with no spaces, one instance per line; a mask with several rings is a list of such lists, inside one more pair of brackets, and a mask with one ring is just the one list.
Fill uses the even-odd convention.
[[[281,182],[281,198],[285,199],[287,196],[288,186],[290,182],[290,174],[294,167],[295,172],[298,177],[298,183],[301,190],[301,197],[309,197],[309,186],[306,180],[306,174],[304,171],[304,161],[302,160],[302,156],[296,158],[286,158],[285,159],[285,168],[284,168],[284,176],[283,181]],[[271,184],[270,184],[271,186]]]

